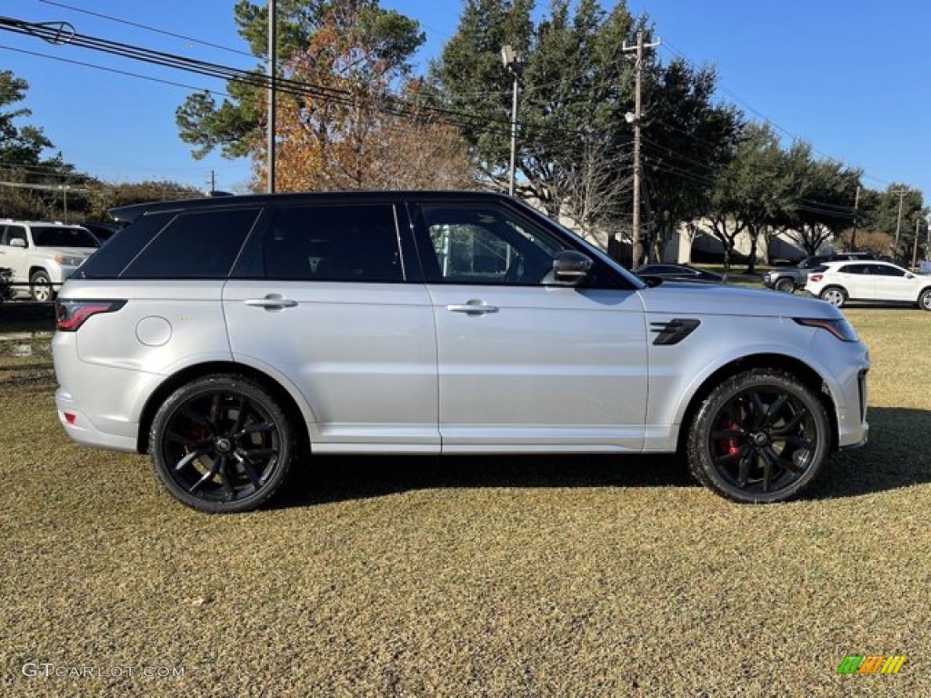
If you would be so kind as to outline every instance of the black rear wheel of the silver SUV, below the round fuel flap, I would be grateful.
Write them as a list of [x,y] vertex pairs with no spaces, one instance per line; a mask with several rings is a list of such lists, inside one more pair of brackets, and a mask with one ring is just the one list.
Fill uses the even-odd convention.
[[249,511],[288,477],[295,429],[274,396],[238,375],[178,388],[155,413],[152,465],[171,496],[212,514]]

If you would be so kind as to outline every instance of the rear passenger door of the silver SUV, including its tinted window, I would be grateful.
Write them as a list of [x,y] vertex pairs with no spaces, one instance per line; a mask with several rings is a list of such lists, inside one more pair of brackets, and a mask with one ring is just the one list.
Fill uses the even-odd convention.
[[433,314],[406,213],[281,202],[265,215],[223,290],[233,356],[300,391],[317,452],[439,452]]

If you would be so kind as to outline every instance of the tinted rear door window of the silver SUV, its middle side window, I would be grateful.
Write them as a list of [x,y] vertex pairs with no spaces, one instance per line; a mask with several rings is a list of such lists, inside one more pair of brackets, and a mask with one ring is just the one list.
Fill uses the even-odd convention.
[[308,281],[404,280],[394,208],[279,208],[263,241],[265,276]]

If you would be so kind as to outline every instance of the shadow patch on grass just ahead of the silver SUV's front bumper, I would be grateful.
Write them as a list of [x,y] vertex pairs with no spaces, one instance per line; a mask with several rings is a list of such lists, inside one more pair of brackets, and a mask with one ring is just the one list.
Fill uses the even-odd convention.
[[804,499],[857,497],[931,482],[931,411],[870,408],[870,443],[835,453]]

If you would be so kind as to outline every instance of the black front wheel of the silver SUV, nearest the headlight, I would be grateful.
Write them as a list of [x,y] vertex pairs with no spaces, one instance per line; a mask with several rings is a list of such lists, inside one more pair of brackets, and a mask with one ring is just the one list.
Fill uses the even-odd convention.
[[695,478],[739,503],[782,502],[803,490],[830,451],[828,412],[789,373],[752,369],[705,398],[687,441]]

